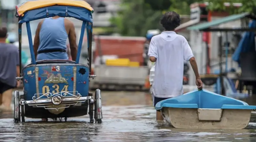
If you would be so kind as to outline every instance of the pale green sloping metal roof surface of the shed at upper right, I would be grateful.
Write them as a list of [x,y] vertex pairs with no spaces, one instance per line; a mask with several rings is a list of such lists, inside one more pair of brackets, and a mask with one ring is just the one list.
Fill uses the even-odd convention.
[[211,22],[205,22],[205,23],[197,24],[195,26],[188,27],[187,29],[188,30],[204,30],[204,29],[207,29],[207,28],[211,28],[213,26],[217,26],[217,25],[222,24],[222,23],[226,23],[226,22],[230,22],[230,21],[234,21],[234,20],[244,18],[245,16],[248,16],[248,15],[250,15],[250,14],[247,13],[247,12],[242,13],[242,14],[230,15],[230,16],[218,19],[218,20],[213,20]]

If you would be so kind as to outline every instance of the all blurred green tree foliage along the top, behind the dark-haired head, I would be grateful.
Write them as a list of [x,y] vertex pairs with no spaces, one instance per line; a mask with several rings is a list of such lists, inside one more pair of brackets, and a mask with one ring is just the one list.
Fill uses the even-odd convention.
[[[208,2],[208,10],[228,11],[231,14],[241,12],[256,13],[256,0],[123,0],[123,10],[111,19],[116,26],[115,32],[128,36],[145,36],[149,29],[162,29],[160,18],[165,11],[175,11],[180,15],[190,14],[190,4]],[[241,7],[233,4],[242,3]]]

